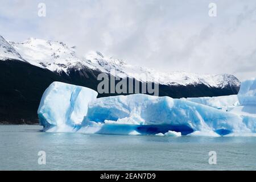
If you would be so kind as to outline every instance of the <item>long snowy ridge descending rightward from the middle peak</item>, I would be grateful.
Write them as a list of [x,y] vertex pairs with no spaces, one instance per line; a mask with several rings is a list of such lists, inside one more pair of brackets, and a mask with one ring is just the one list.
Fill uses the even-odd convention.
[[85,56],[95,67],[102,72],[111,73],[123,77],[133,77],[140,81],[154,81],[163,85],[193,85],[205,84],[216,88],[224,88],[227,85],[237,86],[240,81],[233,75],[199,75],[187,72],[159,72],[154,69],[137,67],[127,64],[123,60],[104,57],[99,52],[90,52]]

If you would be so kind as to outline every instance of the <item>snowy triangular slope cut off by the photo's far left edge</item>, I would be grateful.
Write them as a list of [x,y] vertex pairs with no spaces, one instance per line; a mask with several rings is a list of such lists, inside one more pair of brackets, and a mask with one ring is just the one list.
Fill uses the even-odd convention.
[[6,59],[23,61],[22,56],[0,35],[0,60]]

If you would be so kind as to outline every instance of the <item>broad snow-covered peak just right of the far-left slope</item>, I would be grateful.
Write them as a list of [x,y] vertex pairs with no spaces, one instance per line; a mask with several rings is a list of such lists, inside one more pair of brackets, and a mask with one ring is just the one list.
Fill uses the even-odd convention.
[[21,43],[11,42],[11,45],[28,63],[53,72],[67,72],[69,67],[75,67],[80,61],[73,48],[63,42],[29,38]]

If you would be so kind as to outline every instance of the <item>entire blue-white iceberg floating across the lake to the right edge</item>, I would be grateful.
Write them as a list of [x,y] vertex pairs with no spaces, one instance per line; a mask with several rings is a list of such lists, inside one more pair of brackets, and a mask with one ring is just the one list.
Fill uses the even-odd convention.
[[226,111],[204,102],[205,98],[193,101],[146,94],[97,98],[92,89],[53,82],[43,94],[38,115],[48,132],[256,136],[256,104],[249,98],[255,97],[255,83],[242,83],[238,96],[221,97],[220,102],[218,97],[210,99],[222,105],[234,102]]

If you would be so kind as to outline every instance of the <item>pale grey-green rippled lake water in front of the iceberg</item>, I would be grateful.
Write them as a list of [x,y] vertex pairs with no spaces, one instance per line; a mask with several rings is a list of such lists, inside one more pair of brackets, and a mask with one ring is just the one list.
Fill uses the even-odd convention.
[[[256,137],[44,133],[0,125],[1,170],[256,170]],[[46,164],[38,164],[38,152]],[[217,164],[208,163],[216,151]]]

